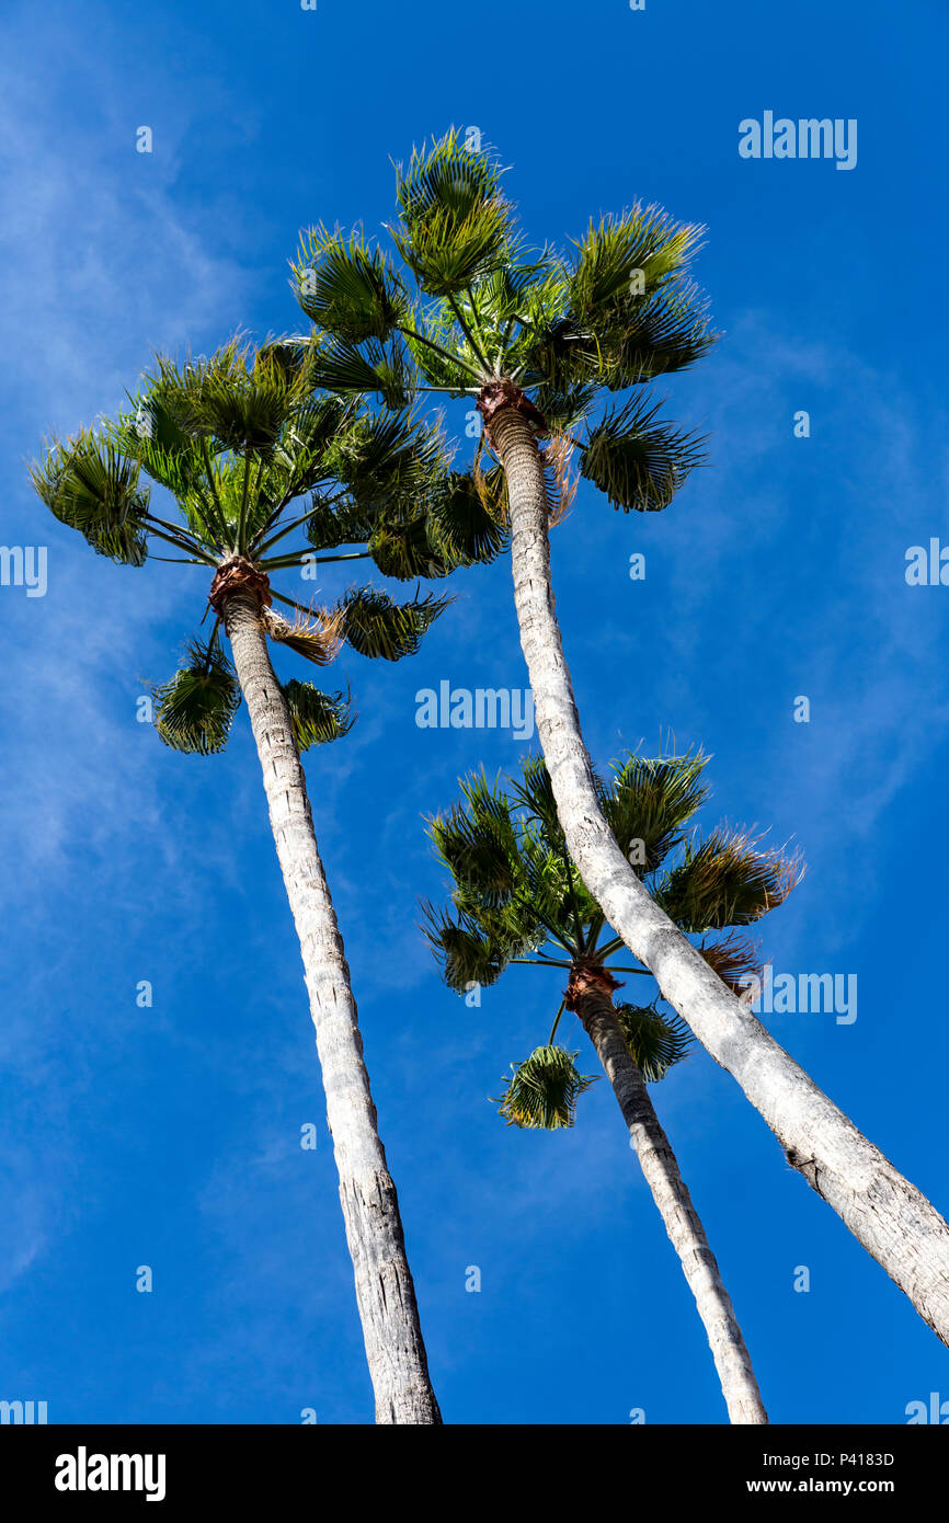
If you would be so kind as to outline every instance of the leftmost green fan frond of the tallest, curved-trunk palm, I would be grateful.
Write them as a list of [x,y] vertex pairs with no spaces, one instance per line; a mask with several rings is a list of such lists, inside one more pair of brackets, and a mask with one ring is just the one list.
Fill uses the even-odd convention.
[[294,291],[318,327],[350,344],[388,338],[405,309],[405,292],[379,248],[359,231],[349,239],[311,228],[292,265]]

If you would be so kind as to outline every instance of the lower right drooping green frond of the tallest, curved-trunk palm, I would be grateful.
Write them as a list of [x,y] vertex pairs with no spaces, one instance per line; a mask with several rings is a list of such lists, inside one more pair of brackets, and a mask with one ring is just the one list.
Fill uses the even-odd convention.
[[669,507],[689,472],[702,463],[702,440],[657,423],[661,404],[634,398],[590,429],[580,475],[614,507],[649,513]]

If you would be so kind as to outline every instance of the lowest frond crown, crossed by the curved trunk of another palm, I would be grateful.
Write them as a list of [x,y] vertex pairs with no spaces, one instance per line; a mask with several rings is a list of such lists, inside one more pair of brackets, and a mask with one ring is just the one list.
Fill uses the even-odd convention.
[[[628,755],[608,781],[596,778],[603,813],[634,871],[676,926],[701,938],[699,952],[733,988],[757,969],[757,947],[736,929],[780,905],[801,876],[797,857],[763,851],[727,825],[702,836],[687,827],[707,798],[702,752]],[[617,966],[629,956],[571,864],[541,757],[526,757],[507,792],[484,772],[462,783],[463,803],[430,821],[430,836],[452,880],[454,914],[425,905],[427,937],[446,984],[459,993],[498,981],[512,964],[650,978]],[[554,1045],[570,990],[547,1043],[513,1068],[501,1115],[521,1127],[573,1125],[582,1077],[576,1052]],[[684,1057],[682,1020],[650,1004],[617,1004],[615,1016],[643,1077],[655,1081]]]

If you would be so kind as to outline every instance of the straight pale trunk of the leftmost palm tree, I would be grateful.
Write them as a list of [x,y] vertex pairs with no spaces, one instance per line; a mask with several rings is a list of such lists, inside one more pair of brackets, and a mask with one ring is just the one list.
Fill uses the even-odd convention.
[[250,592],[232,594],[224,603],[224,623],[250,711],[277,857],[300,938],[366,1357],[376,1394],[376,1422],[440,1422],[396,1186],[385,1167],[363,1062],[343,938],[317,850],[289,710],[260,627],[257,599]]

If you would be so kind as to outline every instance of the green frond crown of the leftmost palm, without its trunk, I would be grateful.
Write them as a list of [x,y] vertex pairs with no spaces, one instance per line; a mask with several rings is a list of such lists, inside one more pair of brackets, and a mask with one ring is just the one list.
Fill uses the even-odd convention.
[[[32,466],[52,513],[99,554],[131,567],[151,556],[215,571],[210,634],[192,638],[181,669],[155,688],[158,734],[175,749],[227,745],[241,691],[219,641],[219,605],[235,577],[250,579],[260,597],[268,637],[308,661],[328,664],[343,641],[396,661],[414,653],[446,599],[416,594],[399,603],[366,585],[314,609],[271,589],[270,576],[370,559],[402,582],[440,579],[501,548],[503,528],[484,527],[439,426],[405,407],[321,394],[314,358],[279,340],[256,352],[232,340],[210,359],[183,366],[158,358],[129,411],[55,443]],[[177,521],[155,509],[154,486],[171,493]],[[155,542],[180,554],[155,556]],[[273,599],[292,618],[279,617]],[[296,679],[283,691],[303,749],[352,723],[341,693]]]

